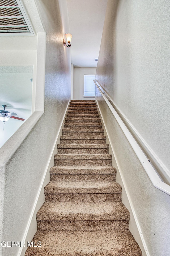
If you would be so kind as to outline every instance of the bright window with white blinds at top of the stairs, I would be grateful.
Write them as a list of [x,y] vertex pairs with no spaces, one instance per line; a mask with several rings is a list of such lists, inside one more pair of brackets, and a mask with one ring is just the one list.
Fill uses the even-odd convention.
[[84,75],[84,96],[95,96],[95,75]]

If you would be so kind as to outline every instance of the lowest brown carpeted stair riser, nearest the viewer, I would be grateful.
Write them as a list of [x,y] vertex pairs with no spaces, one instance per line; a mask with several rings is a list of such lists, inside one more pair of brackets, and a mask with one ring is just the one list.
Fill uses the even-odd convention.
[[37,221],[38,230],[124,230],[129,221]]

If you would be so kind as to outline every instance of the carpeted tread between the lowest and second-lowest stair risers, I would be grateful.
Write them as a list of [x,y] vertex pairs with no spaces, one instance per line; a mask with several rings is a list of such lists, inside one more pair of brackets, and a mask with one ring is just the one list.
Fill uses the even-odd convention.
[[45,202],[37,212],[37,221],[129,220],[122,202]]

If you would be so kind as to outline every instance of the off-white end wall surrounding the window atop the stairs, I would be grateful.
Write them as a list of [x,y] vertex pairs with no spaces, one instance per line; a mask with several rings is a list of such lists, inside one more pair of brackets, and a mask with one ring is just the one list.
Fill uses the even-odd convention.
[[84,75],[95,75],[96,68],[94,67],[74,67],[73,78],[73,99],[88,100],[95,99],[92,97],[85,98],[84,95]]

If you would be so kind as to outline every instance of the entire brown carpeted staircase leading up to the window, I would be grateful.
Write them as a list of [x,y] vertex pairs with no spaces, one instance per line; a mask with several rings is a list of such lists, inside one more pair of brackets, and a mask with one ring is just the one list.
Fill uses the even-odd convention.
[[71,100],[25,256],[142,256],[95,101]]

